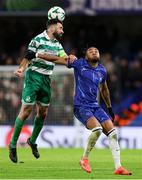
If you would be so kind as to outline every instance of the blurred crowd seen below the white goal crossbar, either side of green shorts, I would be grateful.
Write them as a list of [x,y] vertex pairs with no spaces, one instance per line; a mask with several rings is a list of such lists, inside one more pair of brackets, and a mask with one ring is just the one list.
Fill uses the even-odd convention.
[[[14,76],[12,71],[0,70],[0,124],[14,124],[21,106],[23,79]],[[52,100],[46,124],[73,125],[73,74],[63,73],[52,77]],[[33,110],[27,123],[33,124]]]

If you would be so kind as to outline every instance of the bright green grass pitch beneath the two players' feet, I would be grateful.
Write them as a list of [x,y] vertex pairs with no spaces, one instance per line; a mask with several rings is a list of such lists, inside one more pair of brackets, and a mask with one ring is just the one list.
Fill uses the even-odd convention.
[[81,170],[83,149],[39,149],[35,159],[29,148],[19,148],[17,164],[8,158],[8,149],[0,149],[0,179],[142,179],[142,150],[123,150],[123,166],[132,176],[113,175],[110,151],[94,149],[90,155],[92,173]]

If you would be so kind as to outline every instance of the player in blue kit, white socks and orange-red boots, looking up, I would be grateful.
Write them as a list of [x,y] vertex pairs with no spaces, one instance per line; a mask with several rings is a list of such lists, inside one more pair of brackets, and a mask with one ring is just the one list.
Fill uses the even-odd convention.
[[[46,53],[36,54],[36,56],[48,61],[54,61],[57,64],[64,64],[68,68],[74,68],[74,115],[87,129],[91,130],[83,156],[80,160],[82,169],[91,173],[89,154],[102,131],[105,131],[114,159],[114,174],[131,175],[128,170],[121,166],[120,147],[117,133],[113,125],[114,113],[112,111],[109,89],[106,82],[107,72],[105,67],[100,63],[99,50],[95,47],[90,47],[86,50],[85,58],[80,59],[77,59],[73,55],[65,59],[50,56]],[[108,114],[100,107],[97,101],[98,91],[100,91],[108,108]]]

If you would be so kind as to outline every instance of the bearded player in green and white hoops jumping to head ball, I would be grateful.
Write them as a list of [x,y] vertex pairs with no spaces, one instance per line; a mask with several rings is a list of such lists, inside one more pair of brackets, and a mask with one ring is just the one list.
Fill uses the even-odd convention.
[[13,136],[9,144],[9,157],[14,163],[18,161],[16,151],[17,140],[25,120],[32,112],[34,104],[36,104],[36,116],[33,131],[27,143],[31,147],[34,157],[40,157],[35,142],[43,127],[51,98],[50,75],[53,73],[55,64],[41,58],[32,58],[31,52],[67,57],[59,42],[63,33],[61,21],[56,19],[49,20],[47,30],[31,40],[25,57],[21,61],[19,68],[15,71],[16,76],[22,77],[26,70],[22,91],[22,106],[16,118]]

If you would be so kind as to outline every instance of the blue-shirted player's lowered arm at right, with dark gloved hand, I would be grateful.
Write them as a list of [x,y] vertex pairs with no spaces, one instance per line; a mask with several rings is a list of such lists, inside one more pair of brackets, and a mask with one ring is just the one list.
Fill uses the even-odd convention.
[[104,83],[100,84],[99,89],[100,89],[101,96],[107,106],[108,113],[111,116],[112,121],[114,122],[115,115],[113,113],[112,106],[111,106],[110,93],[107,86],[107,82],[105,81]]

